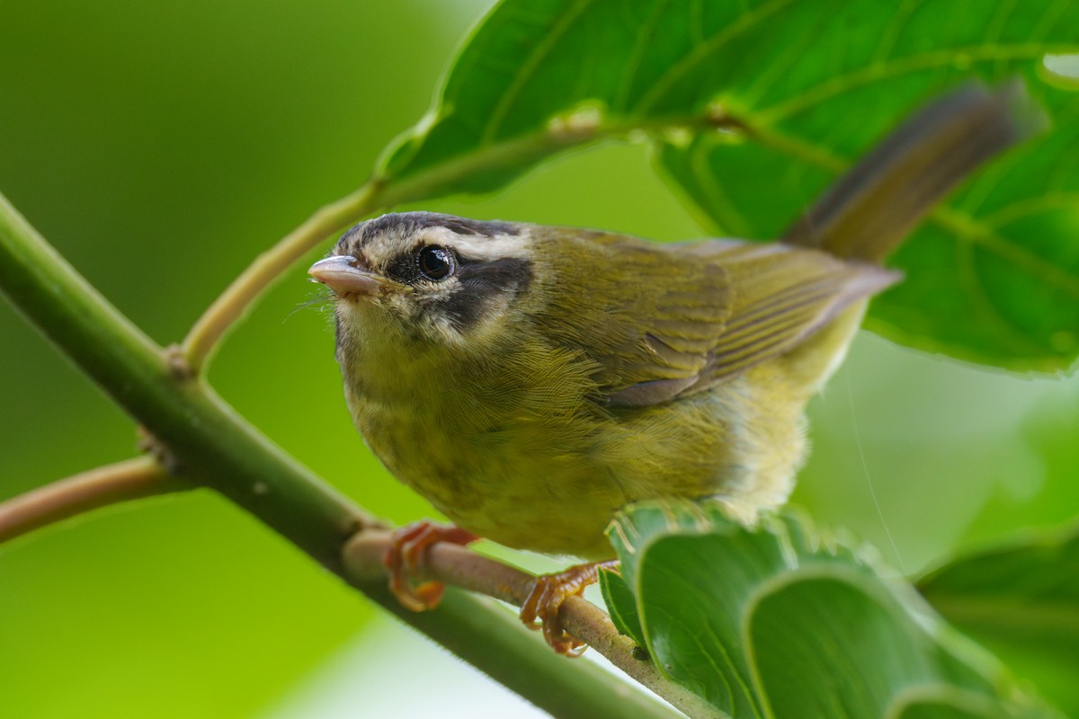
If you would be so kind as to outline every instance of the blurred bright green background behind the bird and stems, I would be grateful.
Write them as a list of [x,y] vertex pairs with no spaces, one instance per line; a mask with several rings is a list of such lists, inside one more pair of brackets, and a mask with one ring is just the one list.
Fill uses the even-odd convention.
[[[154,340],[177,342],[251,258],[366,179],[490,4],[5,2],[0,191]],[[426,208],[700,234],[641,144]],[[371,511],[429,515],[354,432],[329,316],[303,307],[304,269],[229,337],[213,384]],[[133,455],[131,420],[5,303],[0,377],[0,499]],[[905,572],[1057,525],[1079,513],[1077,398],[1074,377],[984,372],[863,336],[812,405],[795,501]],[[100,511],[0,547],[0,716],[331,716],[306,704],[311,687],[353,688],[342,716],[415,716],[404,701],[369,713],[372,693],[437,694],[447,682],[425,669],[437,652],[374,618],[207,493]],[[398,687],[342,664],[395,651],[411,667]]]

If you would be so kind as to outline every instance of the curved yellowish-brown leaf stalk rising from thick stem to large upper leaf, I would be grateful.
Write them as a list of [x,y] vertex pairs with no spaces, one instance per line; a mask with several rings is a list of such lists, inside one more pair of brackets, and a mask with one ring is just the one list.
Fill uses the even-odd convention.
[[229,328],[289,265],[327,235],[372,211],[378,205],[378,188],[377,182],[368,182],[351,195],[323,206],[303,224],[258,255],[202,314],[185,337],[182,351],[192,372],[200,372]]

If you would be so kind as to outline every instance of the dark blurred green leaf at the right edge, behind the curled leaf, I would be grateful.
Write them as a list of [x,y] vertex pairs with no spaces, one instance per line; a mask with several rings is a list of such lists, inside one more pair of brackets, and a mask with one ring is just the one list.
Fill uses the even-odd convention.
[[992,647],[1070,716],[1079,715],[1079,531],[955,559],[918,589],[952,624]]

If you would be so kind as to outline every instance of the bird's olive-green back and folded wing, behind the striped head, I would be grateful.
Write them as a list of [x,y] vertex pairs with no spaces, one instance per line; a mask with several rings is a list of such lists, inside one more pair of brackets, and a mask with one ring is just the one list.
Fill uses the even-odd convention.
[[[795,347],[899,275],[778,243],[658,245],[611,234],[563,241],[573,262],[546,320],[564,347],[586,348],[612,407],[707,389]],[[570,288],[588,288],[573,292]]]

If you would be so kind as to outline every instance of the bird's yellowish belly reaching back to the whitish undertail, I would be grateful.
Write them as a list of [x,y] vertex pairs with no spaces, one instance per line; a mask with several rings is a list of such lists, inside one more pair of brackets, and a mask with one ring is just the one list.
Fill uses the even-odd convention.
[[[718,496],[743,521],[781,506],[805,455],[805,403],[861,313],[852,307],[787,356],[651,407],[569,401],[584,390],[557,377],[508,397],[449,383],[432,401],[406,389],[429,382],[396,377],[401,391],[372,391],[367,375],[363,386],[346,382],[346,397],[382,462],[459,526],[516,549],[599,559],[612,553],[607,524],[630,502]],[[398,372],[410,368],[442,372],[414,358]],[[538,393],[531,404],[529,392]]]

